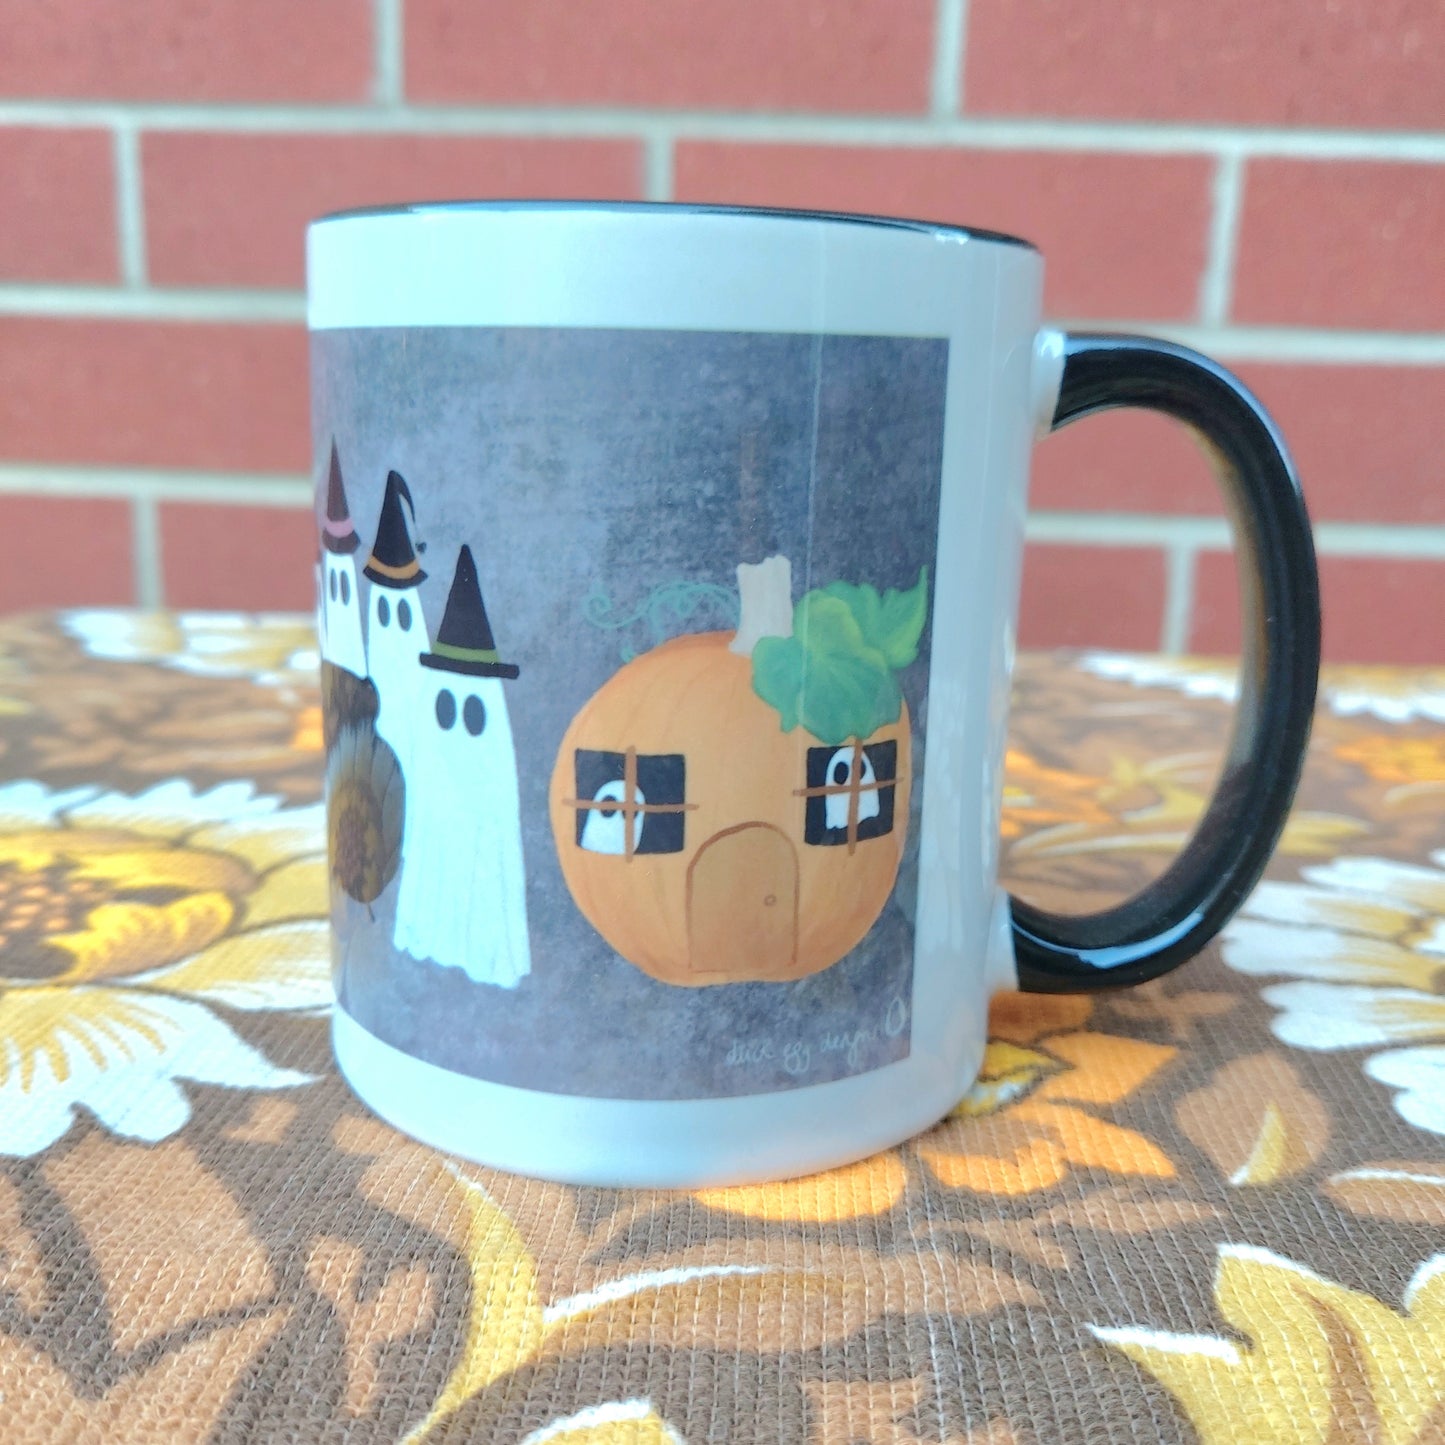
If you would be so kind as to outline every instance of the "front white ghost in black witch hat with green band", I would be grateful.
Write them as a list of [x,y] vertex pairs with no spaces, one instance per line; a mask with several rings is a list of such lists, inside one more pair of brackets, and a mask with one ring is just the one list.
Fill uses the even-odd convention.
[[[532,971],[517,756],[501,662],[471,548],[457,558],[436,644],[413,691],[394,942],[415,958],[513,988]],[[422,681],[425,679],[425,682]],[[413,783],[415,779],[415,783]]]

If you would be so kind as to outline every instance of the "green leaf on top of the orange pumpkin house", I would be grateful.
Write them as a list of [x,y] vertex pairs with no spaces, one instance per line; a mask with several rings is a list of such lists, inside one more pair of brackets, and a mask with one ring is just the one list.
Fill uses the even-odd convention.
[[[837,584],[835,584],[837,585]],[[861,588],[853,588],[861,592]],[[819,743],[864,738],[903,709],[889,657],[871,646],[858,620],[879,630],[886,600],[808,592],[793,608],[790,637],[762,637],[753,649],[753,691],[777,709],[783,731],[799,722]],[[915,644],[916,646],[916,644]]]

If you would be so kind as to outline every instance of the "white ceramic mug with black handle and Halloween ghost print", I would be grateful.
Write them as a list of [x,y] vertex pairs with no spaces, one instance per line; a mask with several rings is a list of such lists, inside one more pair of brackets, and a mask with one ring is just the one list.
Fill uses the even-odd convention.
[[[968,1090],[990,997],[1152,978],[1257,880],[1319,660],[1238,381],[1040,324],[984,231],[708,207],[327,217],[309,324],[338,1064],[556,1179],[801,1175]],[[1036,435],[1194,426],[1244,585],[1194,840],[1136,899],[997,884]]]

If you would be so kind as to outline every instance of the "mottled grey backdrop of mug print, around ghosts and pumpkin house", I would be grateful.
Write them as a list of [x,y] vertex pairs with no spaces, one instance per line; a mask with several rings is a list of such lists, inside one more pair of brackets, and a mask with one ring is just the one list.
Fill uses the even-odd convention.
[[620,958],[568,893],[548,782],[568,722],[627,656],[731,630],[738,562],[786,555],[795,601],[840,579],[907,588],[925,565],[932,578],[946,366],[946,342],[929,338],[312,335],[315,475],[324,497],[335,441],[357,569],[394,468],[426,543],[431,636],[470,543],[499,652],[522,669],[503,686],[532,972],[504,990],[418,962],[392,946],[396,881],[370,909],[334,890],[337,993],[358,1023],[462,1074],[611,1098],[769,1092],[906,1056],[926,629],[900,676],[915,816],[899,881],[864,941],[821,974],[685,988]]

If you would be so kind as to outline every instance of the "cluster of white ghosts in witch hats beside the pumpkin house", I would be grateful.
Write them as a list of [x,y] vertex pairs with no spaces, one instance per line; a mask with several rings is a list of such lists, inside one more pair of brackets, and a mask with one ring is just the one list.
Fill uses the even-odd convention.
[[[410,523],[407,522],[410,519]],[[374,689],[340,720],[328,757],[329,855],[337,886],[370,905],[400,871],[393,942],[413,958],[514,987],[532,971],[517,763],[501,662],[470,546],[457,556],[436,640],[428,636],[405,478],[386,478],[361,629],[355,529],[337,448],[322,523],[322,657]],[[360,670],[358,670],[360,668]],[[328,701],[364,696],[331,682]]]

